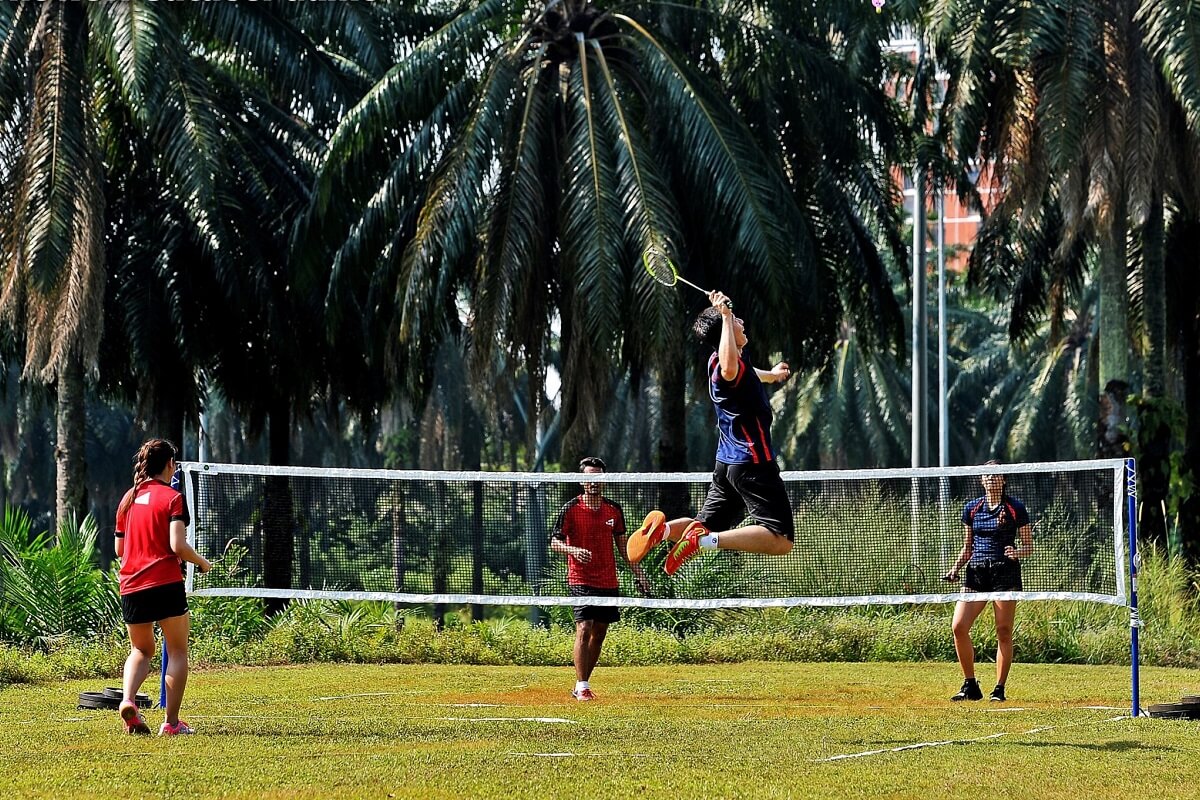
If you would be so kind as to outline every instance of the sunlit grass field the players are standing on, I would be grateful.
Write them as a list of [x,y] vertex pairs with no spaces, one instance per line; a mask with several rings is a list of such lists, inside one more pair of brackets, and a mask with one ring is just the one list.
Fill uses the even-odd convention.
[[[565,668],[197,672],[184,717],[198,735],[179,739],[125,736],[115,712],[76,710],[103,681],[13,686],[0,692],[0,786],[6,798],[1159,800],[1200,784],[1200,722],[1128,718],[1121,667],[1018,664],[1007,704],[966,706],[946,699],[959,684],[947,663],[593,678],[601,699],[583,704]],[[1144,704],[1184,690],[1200,674],[1144,672]],[[834,759],[869,751],[881,752]]]

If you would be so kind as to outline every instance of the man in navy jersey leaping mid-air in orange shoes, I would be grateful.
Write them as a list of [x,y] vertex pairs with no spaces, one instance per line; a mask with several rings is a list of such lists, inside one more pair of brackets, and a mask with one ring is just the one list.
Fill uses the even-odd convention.
[[[733,315],[728,297],[710,291],[708,301],[710,307],[700,313],[692,326],[697,338],[713,348],[708,359],[708,395],[716,410],[720,438],[708,497],[695,519],[667,522],[661,511],[652,511],[626,543],[630,563],[637,564],[659,542],[672,542],[665,565],[667,575],[674,575],[701,549],[786,555],[796,537],[792,504],[770,443],[772,413],[763,389],[763,384],[787,380],[792,372],[784,362],[769,371],[746,363],[742,349],[749,339],[742,320]],[[754,523],[731,530],[748,510]]]

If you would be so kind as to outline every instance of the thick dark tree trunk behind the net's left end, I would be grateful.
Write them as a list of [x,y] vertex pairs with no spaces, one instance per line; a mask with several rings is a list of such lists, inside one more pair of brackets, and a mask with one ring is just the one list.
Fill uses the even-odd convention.
[[[268,459],[272,465],[286,465],[290,458],[290,421],[287,401],[275,401],[268,422]],[[290,482],[287,477],[269,475],[263,481],[263,585],[268,589],[293,588],[294,531]],[[284,599],[268,599],[266,609],[275,614],[287,604]]]

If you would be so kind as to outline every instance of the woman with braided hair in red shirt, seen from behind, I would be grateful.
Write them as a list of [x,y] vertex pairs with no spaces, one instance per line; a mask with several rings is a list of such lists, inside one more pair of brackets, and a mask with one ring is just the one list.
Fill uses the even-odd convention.
[[134,702],[154,658],[154,625],[162,628],[167,649],[167,721],[160,736],[192,733],[179,718],[187,686],[187,594],[182,561],[200,572],[212,569],[187,543],[184,495],[170,488],[175,471],[175,445],[150,439],[133,461],[133,488],[116,509],[116,558],[121,560],[121,614],[130,631],[130,657],[125,660],[125,698],[121,720],[127,733],[150,733]]

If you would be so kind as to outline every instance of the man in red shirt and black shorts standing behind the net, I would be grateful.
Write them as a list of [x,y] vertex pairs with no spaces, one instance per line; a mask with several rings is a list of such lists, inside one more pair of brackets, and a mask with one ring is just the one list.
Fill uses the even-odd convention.
[[[580,471],[604,473],[604,461],[589,456]],[[583,483],[583,494],[572,498],[554,521],[550,548],[566,557],[566,584],[574,597],[616,597],[618,595],[616,552],[625,555],[625,513],[604,497],[599,481]],[[641,567],[630,564],[637,588],[649,594],[649,582]],[[588,680],[600,660],[608,625],[620,619],[616,606],[575,606],[575,690],[577,700],[594,700]]]

